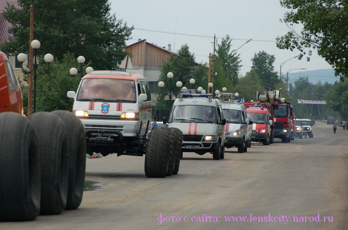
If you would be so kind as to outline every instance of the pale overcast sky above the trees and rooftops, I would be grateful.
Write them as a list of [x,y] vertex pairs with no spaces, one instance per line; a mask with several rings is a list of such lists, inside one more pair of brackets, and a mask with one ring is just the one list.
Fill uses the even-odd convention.
[[[251,58],[259,51],[274,55],[274,71],[279,73],[280,64],[286,61],[281,72],[296,73],[306,70],[332,68],[316,52],[311,61],[306,58],[293,58],[299,52],[279,50],[275,38],[284,35],[289,29],[280,18],[286,11],[279,0],[109,0],[111,13],[117,19],[123,19],[127,26],[134,25],[132,39],[127,45],[138,39],[146,39],[161,47],[176,52],[187,44],[194,53],[197,62],[208,62],[209,53],[213,53],[214,34],[221,39],[229,35],[232,38],[232,50],[242,59],[241,73],[244,75],[252,66]],[[159,32],[154,32],[159,31]],[[192,35],[192,36],[189,36]],[[288,60],[293,58],[291,60]],[[288,61],[287,61],[288,60]],[[298,70],[296,70],[298,69]],[[323,79],[324,80],[324,79]]]

